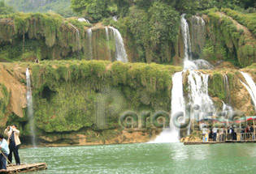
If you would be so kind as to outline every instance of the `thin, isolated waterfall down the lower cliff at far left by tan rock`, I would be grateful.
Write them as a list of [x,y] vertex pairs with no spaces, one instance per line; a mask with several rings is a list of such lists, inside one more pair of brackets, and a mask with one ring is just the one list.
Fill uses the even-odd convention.
[[33,99],[32,99],[32,88],[30,82],[30,74],[27,68],[26,70],[26,80],[27,80],[27,103],[28,103],[28,117],[29,117],[29,125],[31,131],[32,144],[36,146],[36,132],[35,132],[35,121],[33,116]]

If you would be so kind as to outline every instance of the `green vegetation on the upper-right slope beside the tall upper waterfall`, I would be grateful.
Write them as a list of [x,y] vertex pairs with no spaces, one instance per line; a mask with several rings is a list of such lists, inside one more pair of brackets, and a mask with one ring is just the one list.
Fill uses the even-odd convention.
[[210,59],[219,57],[241,67],[249,66],[256,61],[255,40],[250,33],[237,26],[228,16],[215,13],[215,9],[203,13],[210,18],[210,33],[202,50],[204,56]]

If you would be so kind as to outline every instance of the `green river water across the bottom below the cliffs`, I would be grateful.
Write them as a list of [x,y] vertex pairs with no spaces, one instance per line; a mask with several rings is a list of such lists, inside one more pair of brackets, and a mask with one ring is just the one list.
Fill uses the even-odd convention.
[[[46,162],[30,173],[256,173],[256,144],[138,143],[20,149],[21,163]],[[28,172],[29,173],[29,172]]]

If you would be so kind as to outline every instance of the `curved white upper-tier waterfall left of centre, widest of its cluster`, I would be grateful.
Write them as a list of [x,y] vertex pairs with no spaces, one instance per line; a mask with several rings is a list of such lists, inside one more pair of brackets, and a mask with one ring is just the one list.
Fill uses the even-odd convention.
[[112,27],[109,27],[115,38],[115,60],[121,62],[128,62],[127,54],[124,48],[124,40],[120,32]]

